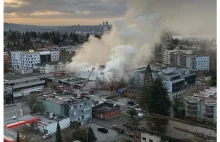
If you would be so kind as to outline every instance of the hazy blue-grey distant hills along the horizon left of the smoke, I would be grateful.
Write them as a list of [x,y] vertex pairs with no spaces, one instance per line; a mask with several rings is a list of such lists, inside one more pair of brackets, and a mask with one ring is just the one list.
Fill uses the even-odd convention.
[[[36,25],[23,25],[23,24],[12,24],[12,23],[4,23],[4,31],[36,31],[36,32],[49,32],[49,31],[59,31],[60,33],[70,33],[76,31],[103,31],[104,26],[102,25],[91,25],[91,26],[80,26],[80,25],[72,25],[72,26],[36,26]],[[110,26],[108,26],[110,28]]]

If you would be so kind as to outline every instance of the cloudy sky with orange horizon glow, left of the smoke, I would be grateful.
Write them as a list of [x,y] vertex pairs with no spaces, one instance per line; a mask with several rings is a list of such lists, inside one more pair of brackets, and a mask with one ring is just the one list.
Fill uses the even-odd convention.
[[40,26],[98,25],[124,15],[128,0],[4,0],[4,22]]

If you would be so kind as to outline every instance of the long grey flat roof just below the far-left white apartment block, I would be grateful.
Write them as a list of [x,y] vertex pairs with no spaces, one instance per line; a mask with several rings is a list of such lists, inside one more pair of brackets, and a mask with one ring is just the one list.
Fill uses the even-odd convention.
[[40,76],[40,75],[42,74],[40,73],[29,73],[29,74],[5,73],[4,80],[16,80],[16,79],[22,79],[26,77],[34,77],[34,76]]

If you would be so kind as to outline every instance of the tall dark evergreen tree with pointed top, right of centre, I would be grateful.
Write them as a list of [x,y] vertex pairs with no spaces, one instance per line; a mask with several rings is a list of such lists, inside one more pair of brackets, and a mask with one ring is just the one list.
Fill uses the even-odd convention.
[[156,79],[145,93],[147,95],[146,105],[149,113],[170,115],[171,102],[168,98],[167,88],[161,79]]

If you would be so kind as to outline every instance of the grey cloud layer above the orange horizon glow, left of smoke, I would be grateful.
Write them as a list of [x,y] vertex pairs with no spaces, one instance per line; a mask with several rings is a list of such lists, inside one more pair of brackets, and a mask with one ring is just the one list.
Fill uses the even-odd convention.
[[4,3],[5,17],[16,13],[23,18],[112,18],[126,11],[126,0],[5,0]]

